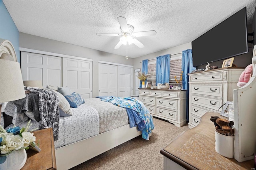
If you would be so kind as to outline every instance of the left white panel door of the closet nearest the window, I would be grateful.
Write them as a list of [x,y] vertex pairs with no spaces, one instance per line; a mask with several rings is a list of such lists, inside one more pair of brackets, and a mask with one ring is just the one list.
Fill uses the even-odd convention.
[[117,66],[99,63],[99,96],[117,96]]

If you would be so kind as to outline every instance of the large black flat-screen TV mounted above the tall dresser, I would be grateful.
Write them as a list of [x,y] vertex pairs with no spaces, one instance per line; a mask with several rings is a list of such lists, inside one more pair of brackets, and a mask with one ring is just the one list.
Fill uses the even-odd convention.
[[192,41],[193,66],[248,53],[246,7]]

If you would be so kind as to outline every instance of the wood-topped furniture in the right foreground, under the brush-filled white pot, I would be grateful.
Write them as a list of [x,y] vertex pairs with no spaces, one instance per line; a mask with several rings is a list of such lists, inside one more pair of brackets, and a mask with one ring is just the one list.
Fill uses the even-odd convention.
[[170,167],[203,170],[251,170],[254,160],[238,162],[234,158],[226,158],[215,151],[215,127],[211,116],[218,113],[207,112],[199,125],[180,134],[168,146],[160,151],[164,155],[164,168]]

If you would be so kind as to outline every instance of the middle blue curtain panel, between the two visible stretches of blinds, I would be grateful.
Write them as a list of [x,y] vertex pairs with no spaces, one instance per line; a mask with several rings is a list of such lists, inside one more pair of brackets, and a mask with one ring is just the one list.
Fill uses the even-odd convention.
[[156,57],[156,85],[170,81],[170,54]]

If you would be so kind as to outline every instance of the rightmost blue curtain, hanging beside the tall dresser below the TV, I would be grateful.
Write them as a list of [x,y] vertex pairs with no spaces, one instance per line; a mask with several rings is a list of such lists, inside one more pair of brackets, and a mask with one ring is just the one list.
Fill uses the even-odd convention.
[[188,73],[191,73],[195,70],[196,67],[193,67],[193,57],[192,57],[192,49],[186,49],[182,51],[182,87],[187,90],[187,103],[186,103],[186,119],[188,121],[188,107],[189,107],[189,84],[188,84]]

